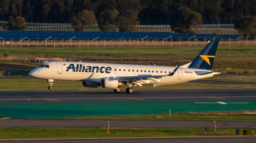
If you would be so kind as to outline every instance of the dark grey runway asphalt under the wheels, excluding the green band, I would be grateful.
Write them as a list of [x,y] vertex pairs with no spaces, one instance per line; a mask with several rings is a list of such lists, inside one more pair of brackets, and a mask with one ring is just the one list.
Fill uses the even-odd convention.
[[[50,99],[50,100],[49,100]],[[256,100],[256,89],[102,91],[0,91],[0,103]]]

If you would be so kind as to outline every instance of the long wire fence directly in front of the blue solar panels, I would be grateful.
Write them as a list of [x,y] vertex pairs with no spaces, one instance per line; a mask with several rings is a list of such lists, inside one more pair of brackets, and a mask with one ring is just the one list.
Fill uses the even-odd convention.
[[[208,40],[21,40],[4,41],[0,40],[0,48],[13,47],[191,47],[206,46]],[[256,39],[222,39],[219,46],[256,46]]]

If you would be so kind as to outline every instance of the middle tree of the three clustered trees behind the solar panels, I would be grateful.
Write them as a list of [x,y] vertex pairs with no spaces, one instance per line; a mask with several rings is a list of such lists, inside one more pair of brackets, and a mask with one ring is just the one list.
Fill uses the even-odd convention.
[[105,10],[98,18],[99,28],[102,31],[111,31],[110,25],[117,24],[118,10]]

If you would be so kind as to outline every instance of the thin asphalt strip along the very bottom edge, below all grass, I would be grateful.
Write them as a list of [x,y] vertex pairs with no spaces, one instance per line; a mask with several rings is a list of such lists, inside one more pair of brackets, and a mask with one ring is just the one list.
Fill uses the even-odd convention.
[[[163,138],[163,139],[72,139],[2,141],[6,143],[255,143],[256,137],[207,137],[207,138]],[[1,141],[0,141],[1,142]]]

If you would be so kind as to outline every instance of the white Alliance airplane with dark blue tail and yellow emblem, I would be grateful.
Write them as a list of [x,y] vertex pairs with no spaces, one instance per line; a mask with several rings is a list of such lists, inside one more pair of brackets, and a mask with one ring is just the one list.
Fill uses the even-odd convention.
[[29,75],[47,79],[48,89],[52,89],[54,80],[67,80],[82,81],[84,87],[114,89],[116,93],[121,91],[120,87],[128,86],[126,92],[133,93],[132,86],[184,83],[229,70],[211,70],[218,43],[218,40],[211,40],[192,62],[180,67],[51,61],[35,68]]

